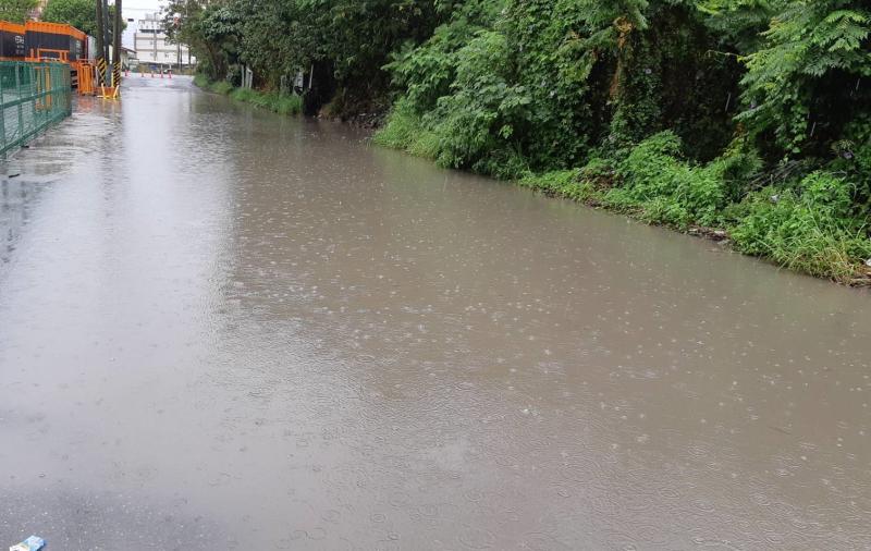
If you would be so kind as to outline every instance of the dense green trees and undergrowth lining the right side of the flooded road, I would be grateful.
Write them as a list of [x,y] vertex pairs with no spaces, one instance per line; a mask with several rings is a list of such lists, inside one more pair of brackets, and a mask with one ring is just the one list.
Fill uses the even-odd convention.
[[871,274],[867,0],[176,0],[167,21],[211,79],[302,73],[309,113],[390,110],[380,144]]

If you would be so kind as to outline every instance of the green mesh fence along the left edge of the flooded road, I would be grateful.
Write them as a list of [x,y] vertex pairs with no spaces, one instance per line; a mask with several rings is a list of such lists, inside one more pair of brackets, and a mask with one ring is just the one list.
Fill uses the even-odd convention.
[[0,61],[0,155],[5,156],[70,115],[70,65]]

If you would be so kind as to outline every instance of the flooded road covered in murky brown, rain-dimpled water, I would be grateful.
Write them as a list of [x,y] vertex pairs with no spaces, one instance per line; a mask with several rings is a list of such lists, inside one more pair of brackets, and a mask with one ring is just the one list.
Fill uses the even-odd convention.
[[868,292],[127,86],[3,166],[0,544],[871,548]]

